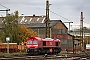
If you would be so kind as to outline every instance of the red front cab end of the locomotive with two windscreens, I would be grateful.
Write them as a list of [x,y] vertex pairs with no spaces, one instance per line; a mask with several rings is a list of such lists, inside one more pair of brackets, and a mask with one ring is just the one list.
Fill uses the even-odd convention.
[[37,53],[39,51],[38,45],[39,45],[39,41],[37,38],[35,37],[28,38],[26,43],[26,47],[27,47],[26,52],[29,54]]

